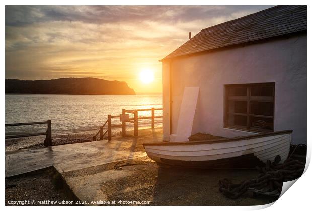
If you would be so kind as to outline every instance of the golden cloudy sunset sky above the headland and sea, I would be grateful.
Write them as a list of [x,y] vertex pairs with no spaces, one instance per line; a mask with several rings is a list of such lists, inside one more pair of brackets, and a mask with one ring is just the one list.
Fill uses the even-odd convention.
[[[158,60],[189,32],[269,7],[6,6],[6,78],[96,77],[161,92]],[[143,70],[154,80],[142,81]]]

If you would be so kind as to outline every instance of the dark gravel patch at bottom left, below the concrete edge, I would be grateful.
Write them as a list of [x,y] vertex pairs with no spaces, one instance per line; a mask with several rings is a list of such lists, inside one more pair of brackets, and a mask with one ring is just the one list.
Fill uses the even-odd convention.
[[71,200],[63,191],[54,170],[49,168],[37,174],[6,179],[6,205],[17,201],[23,201],[24,205],[40,205],[38,201],[55,201],[57,204],[48,205],[65,205],[62,201]]

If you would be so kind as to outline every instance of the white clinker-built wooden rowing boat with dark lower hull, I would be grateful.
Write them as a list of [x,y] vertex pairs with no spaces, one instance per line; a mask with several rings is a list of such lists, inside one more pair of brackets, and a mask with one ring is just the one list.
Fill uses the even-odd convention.
[[160,164],[194,168],[253,168],[289,154],[292,130],[235,138],[187,142],[143,143],[147,155]]

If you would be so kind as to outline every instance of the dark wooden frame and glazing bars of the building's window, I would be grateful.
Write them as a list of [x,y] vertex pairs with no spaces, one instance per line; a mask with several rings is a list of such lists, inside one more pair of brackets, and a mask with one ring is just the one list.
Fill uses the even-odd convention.
[[[232,87],[246,87],[247,94],[246,96],[229,96],[229,88]],[[270,87],[273,89],[272,96],[251,96],[251,89],[255,87]],[[233,113],[229,112],[229,101],[246,101],[247,102],[247,112],[246,114],[243,113]],[[256,115],[251,114],[250,111],[250,102],[271,102],[273,103],[273,116],[265,116],[265,115]],[[246,126],[240,125],[231,125],[228,123],[229,115],[240,115],[246,116],[247,122]],[[224,85],[224,120],[223,126],[224,128],[231,128],[231,129],[238,129],[243,131],[250,131],[250,132],[258,132],[258,133],[265,133],[265,132],[273,132],[274,131],[274,117],[275,117],[275,82],[269,83],[253,83],[253,84],[226,84]],[[250,119],[251,117],[259,117],[259,118],[270,118],[273,121],[272,130],[270,129],[262,129],[262,128],[251,128],[250,126]]]

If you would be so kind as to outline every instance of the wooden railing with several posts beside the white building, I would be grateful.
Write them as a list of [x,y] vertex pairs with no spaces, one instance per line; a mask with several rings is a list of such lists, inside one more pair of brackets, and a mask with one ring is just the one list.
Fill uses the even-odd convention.
[[[103,140],[104,136],[107,134],[107,139],[110,141],[112,140],[112,128],[122,128],[122,137],[126,137],[126,123],[130,122],[134,124],[134,136],[138,136],[138,120],[140,119],[151,119],[151,128],[155,128],[155,118],[162,118],[163,116],[155,116],[155,111],[157,110],[163,110],[162,108],[150,108],[150,109],[135,109],[135,110],[126,110],[122,109],[122,114],[120,115],[107,115],[106,122],[100,127],[99,131],[95,136],[93,136],[93,140],[95,141],[97,139],[97,136],[99,135],[100,140]],[[151,111],[151,116],[143,116],[138,117],[138,112],[140,111]],[[133,118],[129,118],[129,114],[133,114]],[[121,124],[115,124],[112,125],[112,118],[119,118],[122,122]],[[107,130],[103,133],[104,127],[107,125]]]

